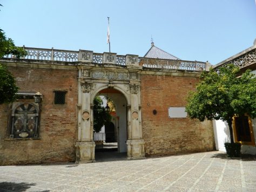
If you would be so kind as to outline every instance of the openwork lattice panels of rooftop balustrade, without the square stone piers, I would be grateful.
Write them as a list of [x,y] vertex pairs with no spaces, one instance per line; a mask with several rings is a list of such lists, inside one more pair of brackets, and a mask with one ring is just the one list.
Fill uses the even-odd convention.
[[[79,61],[79,51],[67,51],[57,49],[39,49],[24,47],[28,54],[23,59],[32,60],[49,60],[49,61],[64,61],[64,62],[77,62]],[[111,53],[110,53],[111,54]],[[4,58],[15,58],[11,54],[6,55]],[[133,58],[134,59],[134,58]],[[185,61],[185,60],[170,60],[170,59],[154,59],[137,57],[139,66],[146,68],[162,68],[167,70],[187,70],[187,71],[205,71],[207,70],[206,63],[199,61]],[[103,64],[103,53],[92,53],[92,63]],[[117,65],[126,65],[126,56],[117,55]]]

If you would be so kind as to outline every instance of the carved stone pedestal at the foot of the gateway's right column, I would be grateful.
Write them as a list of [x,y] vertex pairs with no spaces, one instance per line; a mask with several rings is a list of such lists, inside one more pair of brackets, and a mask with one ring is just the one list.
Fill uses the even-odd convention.
[[127,159],[145,159],[145,141],[143,139],[127,140],[126,145]]

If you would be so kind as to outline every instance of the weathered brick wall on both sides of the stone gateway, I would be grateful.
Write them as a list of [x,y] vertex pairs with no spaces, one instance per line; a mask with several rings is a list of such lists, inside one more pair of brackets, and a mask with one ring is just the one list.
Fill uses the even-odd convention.
[[[23,67],[22,67],[23,66]],[[9,66],[19,92],[43,94],[40,139],[7,139],[9,105],[0,105],[0,164],[75,161],[77,141],[78,70]],[[146,74],[150,73],[150,74]],[[180,76],[179,76],[180,75]],[[179,73],[171,76],[143,71],[141,79],[142,128],[146,155],[165,155],[214,150],[211,121],[169,118],[168,107],[184,107],[188,91],[198,77]],[[67,91],[64,105],[54,104],[53,91]],[[156,109],[157,114],[153,114]]]

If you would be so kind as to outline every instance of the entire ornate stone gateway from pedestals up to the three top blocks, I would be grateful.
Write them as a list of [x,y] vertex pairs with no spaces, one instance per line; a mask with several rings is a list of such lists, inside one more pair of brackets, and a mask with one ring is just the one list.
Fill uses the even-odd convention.
[[[79,52],[78,85],[78,142],[76,163],[95,161],[93,141],[93,99],[98,92],[113,88],[121,92],[127,101],[127,158],[144,158],[142,115],[140,109],[140,80],[138,56],[126,55],[126,66],[116,65],[116,53],[104,53],[102,67],[92,63],[97,56],[91,51]],[[95,58],[94,58],[95,59]],[[120,60],[120,58],[118,58]],[[107,64],[107,65],[104,65]],[[111,65],[112,64],[112,65]]]

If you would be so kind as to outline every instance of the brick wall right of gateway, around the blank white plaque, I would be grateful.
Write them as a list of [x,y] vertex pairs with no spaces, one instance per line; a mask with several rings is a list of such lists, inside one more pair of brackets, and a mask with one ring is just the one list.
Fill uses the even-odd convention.
[[[168,107],[185,107],[197,77],[141,74],[142,129],[146,155],[214,150],[211,121],[169,118]],[[157,114],[153,114],[156,109]]]

